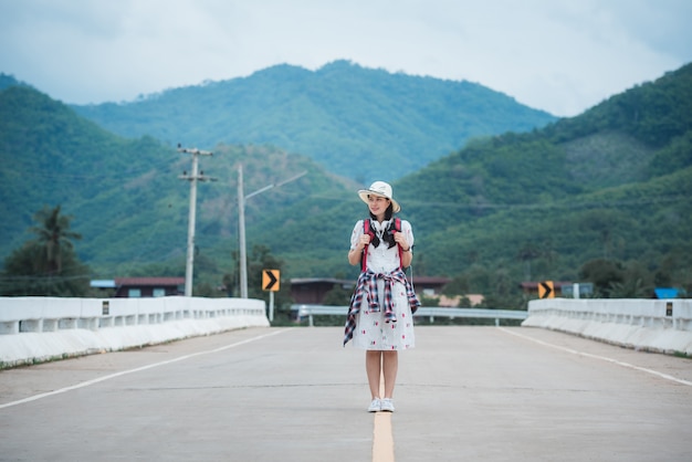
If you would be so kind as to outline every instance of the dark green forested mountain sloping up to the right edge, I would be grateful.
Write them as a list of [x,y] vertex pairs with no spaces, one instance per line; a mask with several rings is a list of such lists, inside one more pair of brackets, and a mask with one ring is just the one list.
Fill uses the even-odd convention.
[[[692,65],[543,129],[470,141],[394,190],[415,225],[417,274],[516,292],[523,280],[579,281],[583,266],[601,259],[633,284],[690,291]],[[301,272],[336,271],[345,235],[365,214],[353,202],[360,211],[350,218],[342,207],[301,223],[346,220],[323,234],[323,246],[336,250],[318,266],[307,246],[283,244],[296,229],[258,239]]]

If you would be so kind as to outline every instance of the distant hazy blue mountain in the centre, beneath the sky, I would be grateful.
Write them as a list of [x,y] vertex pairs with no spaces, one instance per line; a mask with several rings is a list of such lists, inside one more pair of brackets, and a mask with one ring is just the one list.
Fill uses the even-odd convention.
[[[148,135],[169,146],[207,149],[219,143],[273,145],[361,183],[395,180],[475,137],[556,120],[480,84],[392,74],[347,61],[315,72],[276,65],[136,102],[72,107],[120,136]],[[385,171],[378,168],[382,165]]]

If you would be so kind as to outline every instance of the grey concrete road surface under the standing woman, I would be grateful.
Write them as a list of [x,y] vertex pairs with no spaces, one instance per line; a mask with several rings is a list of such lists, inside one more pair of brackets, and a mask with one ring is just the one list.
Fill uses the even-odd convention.
[[340,328],[255,328],[0,372],[2,461],[690,461],[692,360],[417,328],[394,414]]

